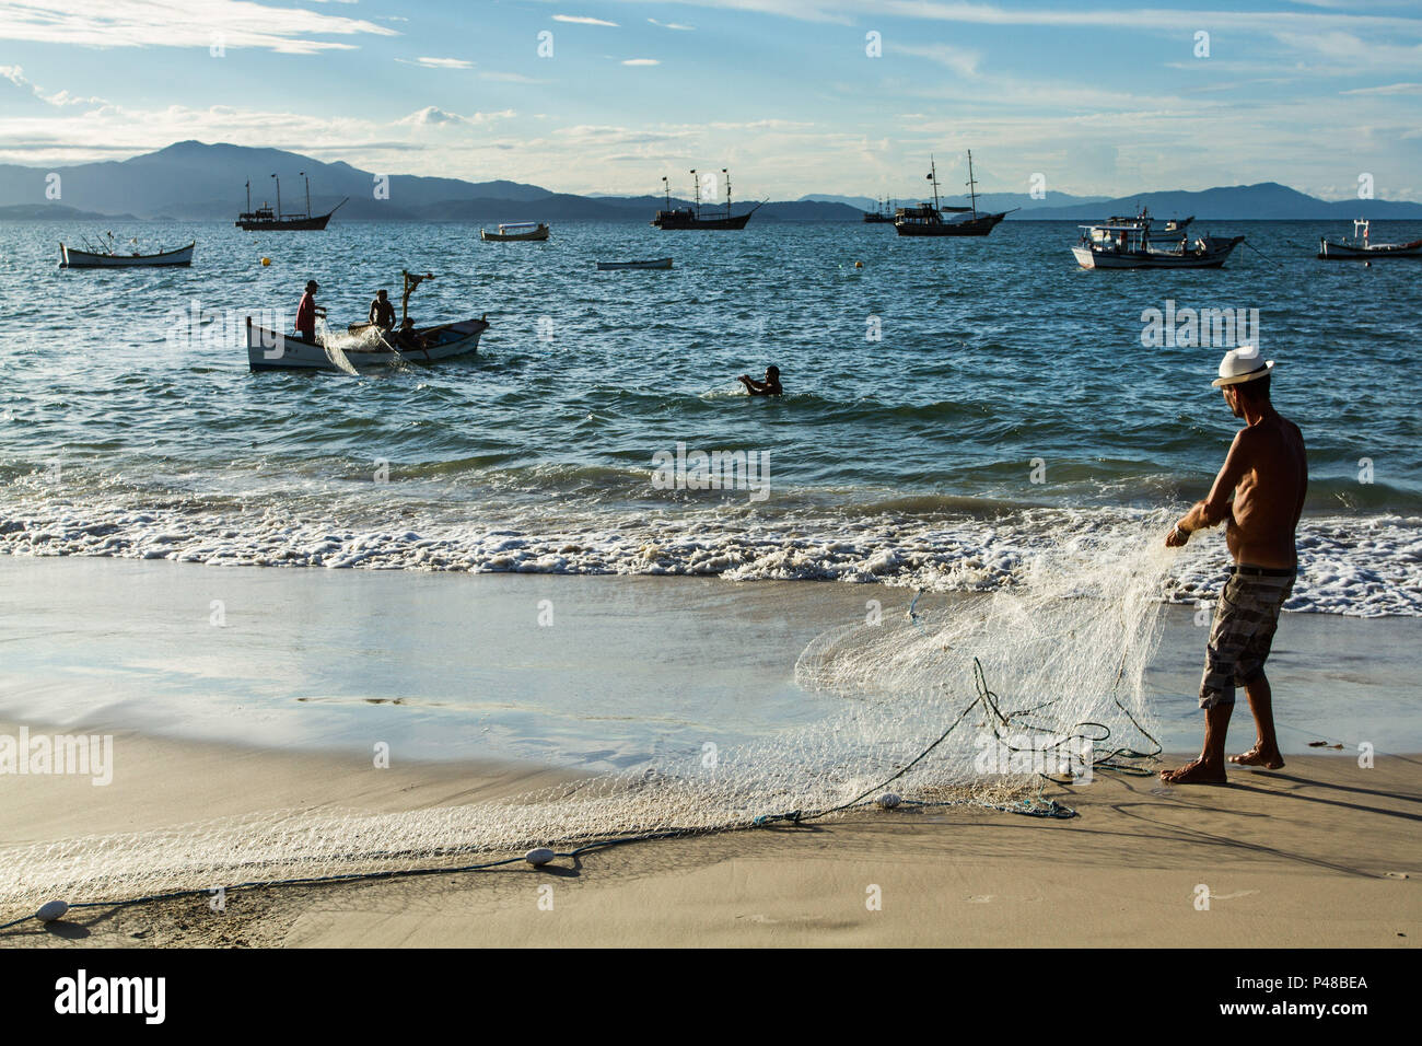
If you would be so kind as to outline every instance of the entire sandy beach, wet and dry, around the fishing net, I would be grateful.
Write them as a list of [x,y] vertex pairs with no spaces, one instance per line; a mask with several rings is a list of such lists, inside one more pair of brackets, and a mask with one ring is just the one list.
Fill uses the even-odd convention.
[[[4,558],[0,581],[7,582],[0,733],[21,723],[111,730],[118,753],[105,787],[81,777],[0,778],[0,840],[10,844],[266,810],[464,804],[582,776],[569,766],[468,757],[395,759],[388,770],[373,770],[367,739],[397,730],[397,716],[411,714],[410,743],[425,750],[421,737],[448,733],[451,722],[472,713],[418,704],[422,694],[466,685],[448,666],[411,667],[391,676],[397,685],[346,663],[374,642],[361,630],[365,599],[388,609],[402,598],[435,618],[459,601],[464,619],[486,629],[530,612],[545,595],[570,612],[582,601],[587,625],[580,638],[569,630],[569,646],[539,653],[535,640],[510,638],[538,635],[523,629],[481,648],[489,653],[479,672],[508,679],[516,693],[505,697],[515,703],[580,677],[610,693],[624,687],[630,702],[644,699],[638,687],[665,694],[665,679],[629,652],[680,649],[720,622],[710,632],[720,655],[744,649],[747,656],[727,665],[708,653],[707,670],[721,675],[705,679],[697,675],[700,655],[683,653],[678,686],[707,707],[735,694],[737,716],[771,723],[793,719],[791,669],[808,639],[860,615],[869,598],[883,599],[887,612],[910,596],[877,586],[714,579],[412,578]],[[246,638],[173,623],[196,613],[206,628],[215,586],[229,608],[263,608]],[[327,606],[354,622],[344,653],[334,646],[337,633],[321,630]],[[1203,639],[1189,611],[1169,616],[1153,686],[1183,692],[1163,719],[1167,746],[1185,751],[1199,737],[1189,694]],[[293,636],[292,620],[309,623],[314,639]],[[1230,787],[1166,790],[1153,777],[1098,773],[1086,786],[1048,786],[1048,797],[1081,813],[1074,820],[971,808],[857,811],[803,827],[602,850],[577,867],[563,860],[546,870],[233,891],[222,912],[206,897],[75,909],[48,928],[7,931],[0,946],[1415,946],[1422,760],[1394,753],[1418,750],[1406,744],[1416,713],[1404,702],[1415,692],[1406,680],[1416,679],[1418,625],[1285,618],[1276,649],[1287,656],[1271,676],[1280,719],[1293,729],[1283,734],[1288,766],[1231,770]],[[402,643],[414,642],[400,629],[375,635],[381,665],[392,656],[400,663]],[[250,667],[239,676],[250,685],[240,713],[228,709],[232,680],[218,662],[178,672],[185,650],[202,662],[208,636],[232,645],[223,663]],[[263,643],[274,649],[273,665],[256,660]],[[334,704],[264,690],[263,680],[280,679],[294,650],[310,659],[301,679],[356,677],[364,689]],[[395,706],[390,694],[415,703]],[[208,712],[183,716],[183,702]],[[145,707],[176,717],[164,729]],[[220,729],[209,722],[213,707],[228,709]],[[341,714],[330,716],[331,707]],[[367,716],[380,726],[353,724]],[[1352,747],[1298,754],[1311,739],[1351,746],[1359,737],[1376,744],[1372,768],[1358,766]],[[1241,706],[1230,750],[1250,739]],[[623,741],[634,750],[641,739]],[[1204,891],[1210,902],[1200,909]]]

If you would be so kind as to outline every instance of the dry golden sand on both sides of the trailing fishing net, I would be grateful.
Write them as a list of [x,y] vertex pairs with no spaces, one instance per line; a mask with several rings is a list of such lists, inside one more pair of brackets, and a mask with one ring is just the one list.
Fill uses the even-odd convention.
[[[108,788],[11,778],[9,841],[263,807],[400,810],[550,783],[122,737]],[[638,842],[579,862],[77,909],[6,946],[1223,945],[1422,941],[1422,760],[1291,757],[1229,787],[1098,774],[1054,788],[1081,817],[870,810],[806,827]],[[9,786],[7,786],[9,787]],[[26,791],[28,790],[28,791]],[[1197,908],[1200,888],[1207,909]],[[870,901],[877,897],[879,907]],[[78,898],[70,898],[78,899]]]

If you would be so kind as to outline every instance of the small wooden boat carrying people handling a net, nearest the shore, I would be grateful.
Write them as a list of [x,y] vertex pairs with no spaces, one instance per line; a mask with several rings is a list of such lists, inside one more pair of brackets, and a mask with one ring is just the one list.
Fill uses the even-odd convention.
[[247,366],[252,370],[344,370],[404,363],[434,363],[479,350],[479,337],[489,329],[488,313],[479,319],[441,323],[432,327],[410,326],[410,295],[424,280],[401,272],[405,282],[400,299],[400,329],[377,330],[370,323],[353,323],[351,334],[361,340],[350,346],[324,344],[301,334],[283,334],[252,322],[247,316]]

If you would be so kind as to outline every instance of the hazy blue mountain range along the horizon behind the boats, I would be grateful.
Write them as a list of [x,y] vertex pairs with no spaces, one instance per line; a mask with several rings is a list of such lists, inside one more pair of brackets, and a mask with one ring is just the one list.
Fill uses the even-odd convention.
[[[378,182],[384,175],[343,161],[327,164],[283,149],[186,141],[124,161],[53,169],[0,165],[0,216],[135,221],[137,215],[138,219],[232,221],[246,208],[247,182],[252,184],[253,205],[276,205],[273,174],[282,178],[282,209],[293,212],[306,208],[301,171],[311,179],[311,209],[316,213],[350,198],[341,206],[338,221],[646,222],[665,205],[665,198],[660,195],[580,196],[503,179],[466,182],[459,178],[388,175]],[[58,201],[46,198],[50,174],[60,176]],[[388,186],[388,198],[375,198],[377,185]],[[738,202],[735,211],[744,212],[752,204]],[[967,198],[944,196],[943,204],[963,206]],[[673,198],[673,206],[687,206],[687,201]],[[757,211],[757,221],[857,222],[866,209],[876,206],[867,196],[811,194],[798,201],[769,202]],[[1021,208],[1012,219],[1089,221],[1135,213],[1139,206],[1149,206],[1160,218],[1194,215],[1204,221],[1422,218],[1422,204],[1381,199],[1332,204],[1277,182],[1203,192],[1142,192],[1119,199],[1055,192],[1047,194],[1045,199],[997,192],[978,196],[980,211]],[[707,205],[704,209],[715,213],[717,206]]]

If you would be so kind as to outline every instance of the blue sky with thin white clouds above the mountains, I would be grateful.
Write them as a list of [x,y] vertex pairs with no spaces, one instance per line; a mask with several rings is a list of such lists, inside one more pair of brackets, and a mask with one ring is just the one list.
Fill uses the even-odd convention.
[[988,192],[1422,201],[1422,3],[0,0],[0,162],[189,138],[580,194],[907,198],[971,148]]

